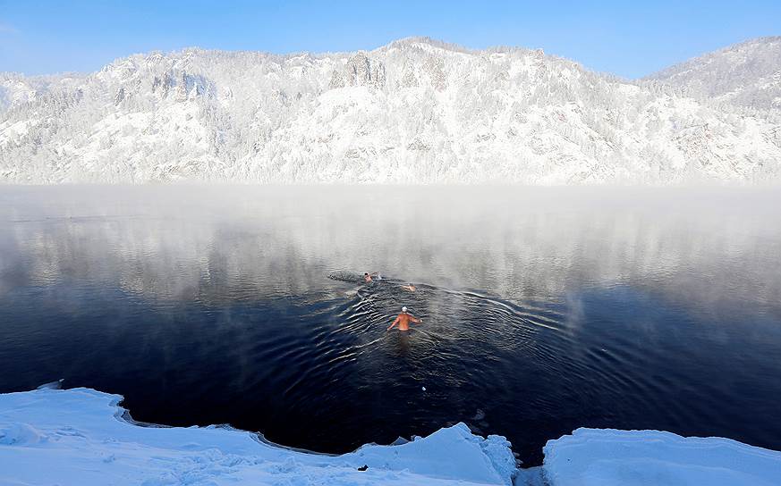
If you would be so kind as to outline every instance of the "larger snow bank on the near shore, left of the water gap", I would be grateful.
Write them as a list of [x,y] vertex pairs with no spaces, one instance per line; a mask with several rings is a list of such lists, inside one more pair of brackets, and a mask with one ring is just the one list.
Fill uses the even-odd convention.
[[463,423],[331,457],[219,427],[141,427],[122,418],[121,400],[88,389],[0,395],[0,483],[471,485],[512,484],[517,473],[509,442]]

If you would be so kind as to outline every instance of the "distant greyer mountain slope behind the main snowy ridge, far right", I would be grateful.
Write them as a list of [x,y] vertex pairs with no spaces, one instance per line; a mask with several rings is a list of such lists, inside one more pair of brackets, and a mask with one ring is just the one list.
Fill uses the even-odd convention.
[[683,95],[757,109],[781,110],[781,37],[757,38],[652,74]]

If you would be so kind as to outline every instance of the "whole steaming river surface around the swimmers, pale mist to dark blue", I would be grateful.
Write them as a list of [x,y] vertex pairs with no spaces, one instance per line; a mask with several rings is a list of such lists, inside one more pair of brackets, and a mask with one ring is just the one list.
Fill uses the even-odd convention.
[[[334,453],[459,421],[527,465],[582,426],[781,449],[779,202],[6,187],[0,392],[64,378],[140,421]],[[423,323],[387,332],[401,306]]]

